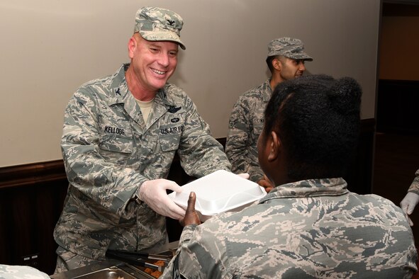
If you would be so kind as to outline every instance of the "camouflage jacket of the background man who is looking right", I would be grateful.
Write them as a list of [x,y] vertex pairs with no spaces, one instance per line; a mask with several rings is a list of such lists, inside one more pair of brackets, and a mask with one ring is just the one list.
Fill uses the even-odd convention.
[[249,173],[251,181],[263,178],[257,161],[257,139],[262,132],[264,109],[272,96],[270,79],[238,98],[230,115],[225,154],[234,173]]

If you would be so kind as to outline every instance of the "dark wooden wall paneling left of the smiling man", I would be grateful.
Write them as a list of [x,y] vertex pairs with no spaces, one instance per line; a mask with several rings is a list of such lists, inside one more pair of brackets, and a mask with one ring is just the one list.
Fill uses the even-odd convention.
[[0,263],[52,274],[57,257],[52,231],[68,186],[62,160],[1,168],[0,178]]

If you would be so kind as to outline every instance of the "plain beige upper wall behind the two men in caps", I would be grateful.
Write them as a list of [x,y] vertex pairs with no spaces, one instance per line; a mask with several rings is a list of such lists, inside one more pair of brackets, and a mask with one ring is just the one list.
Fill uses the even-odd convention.
[[374,118],[379,0],[3,0],[0,2],[0,166],[61,159],[62,116],[72,93],[128,62],[140,6],[185,21],[177,72],[225,137],[241,93],[267,79],[267,43],[300,38],[311,74],[352,76],[364,89],[362,118]]

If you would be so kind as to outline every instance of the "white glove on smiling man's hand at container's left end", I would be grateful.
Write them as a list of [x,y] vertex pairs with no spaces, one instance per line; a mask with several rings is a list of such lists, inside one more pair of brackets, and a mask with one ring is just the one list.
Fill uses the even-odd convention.
[[185,210],[173,202],[167,195],[166,190],[181,192],[181,187],[174,181],[167,179],[155,179],[141,184],[138,195],[140,200],[160,215],[180,220],[185,216]]

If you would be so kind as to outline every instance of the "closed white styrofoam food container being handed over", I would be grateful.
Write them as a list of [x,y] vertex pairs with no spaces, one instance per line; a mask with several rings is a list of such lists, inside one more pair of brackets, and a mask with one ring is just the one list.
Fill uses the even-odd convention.
[[181,186],[181,193],[170,193],[174,203],[188,206],[189,193],[196,193],[195,210],[201,221],[225,211],[239,211],[266,195],[257,183],[228,171],[215,171]]

